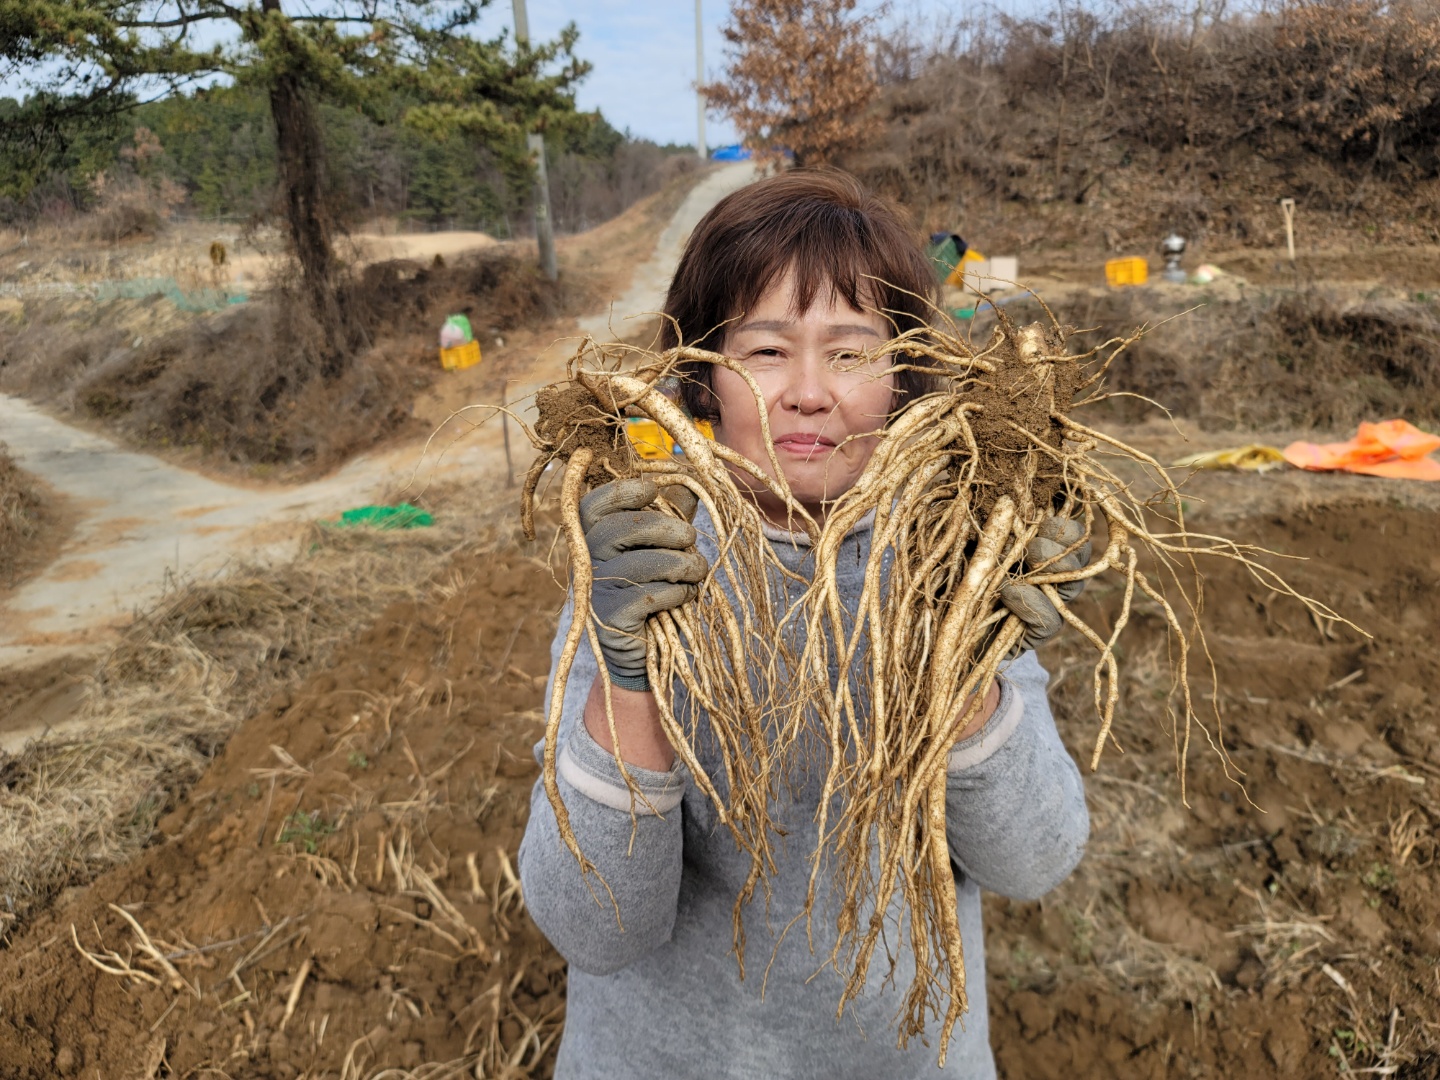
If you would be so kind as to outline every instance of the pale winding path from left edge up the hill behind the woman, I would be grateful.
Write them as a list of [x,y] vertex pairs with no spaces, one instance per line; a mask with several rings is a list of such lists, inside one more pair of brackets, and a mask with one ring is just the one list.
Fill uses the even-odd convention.
[[[635,271],[629,289],[603,312],[579,320],[577,333],[602,336],[611,311],[658,307],[696,222],[752,177],[749,164],[704,177],[661,233],[654,256]],[[420,253],[426,252],[429,248]],[[560,338],[539,350],[513,380],[511,395],[554,377],[572,348],[572,338]],[[468,429],[464,438],[448,429],[431,444],[369,454],[324,480],[288,488],[209,480],[127,451],[6,395],[0,395],[0,432],[17,464],[66,497],[76,516],[69,541],[49,566],[0,598],[0,670],[33,668],[75,651],[104,648],[115,628],[153,602],[173,577],[215,573],[236,557],[285,552],[317,518],[338,517],[402,490],[495,477],[504,468],[503,432],[494,423]],[[16,749],[39,730],[43,727],[32,723],[6,730],[0,719],[0,750]]]

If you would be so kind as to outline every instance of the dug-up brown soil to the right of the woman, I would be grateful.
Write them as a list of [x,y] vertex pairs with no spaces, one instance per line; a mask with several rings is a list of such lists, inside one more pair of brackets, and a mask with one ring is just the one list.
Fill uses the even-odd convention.
[[[1241,567],[1205,564],[1223,720],[1211,733],[1233,766],[1197,732],[1189,809],[1158,618],[1122,638],[1125,753],[1089,785],[1086,863],[1038,903],[988,899],[1007,1077],[1331,1077],[1342,1063],[1440,1076],[1436,513],[1292,505],[1225,531],[1310,557],[1282,564],[1286,579],[1374,638],[1322,629]],[[1117,605],[1094,586],[1080,611],[1106,625]],[[1087,760],[1087,658],[1064,641],[1043,661]]]

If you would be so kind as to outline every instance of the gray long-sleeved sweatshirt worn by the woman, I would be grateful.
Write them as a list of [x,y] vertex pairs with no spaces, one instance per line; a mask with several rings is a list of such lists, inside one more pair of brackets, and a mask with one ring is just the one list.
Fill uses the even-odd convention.
[[[714,563],[708,526],[701,508],[698,547]],[[838,560],[840,586],[851,606],[870,539],[868,524],[857,527]],[[808,549],[778,537],[772,543],[788,566],[808,570]],[[556,629],[552,688],[572,612],[566,605]],[[804,906],[824,770],[808,770],[808,782],[772,802],[772,819],[789,835],[776,855],[769,897],[757,890],[746,909],[742,981],[732,912],[749,857],[680,762],[670,772],[629,768],[658,811],[638,805],[632,834],[629,791],[615,759],[582,721],[596,671],[595,655],[582,644],[564,694],[559,783],[580,851],[613,890],[624,929],[603,888],[582,880],[539,780],[520,845],[526,904],[570,963],[556,1079],[994,1077],[981,890],[1020,900],[1043,896],[1080,861],[1090,829],[1080,773],[1056,733],[1048,678],[1035,655],[1027,652],[1008,667],[994,716],[949,756],[946,824],[971,1008],[956,1027],[943,1071],[936,1070],[933,1038],[930,1045],[913,1038],[907,1050],[896,1047],[900,1001],[913,973],[907,950],[897,952],[887,981],[890,963],[884,948],[877,949],[865,992],[837,1020],[844,984],[824,966],[835,933],[832,910],[821,910],[824,896],[812,923],[814,953],[804,923],[782,935]],[[547,691],[547,707],[549,701]],[[537,760],[540,753],[537,744]],[[717,762],[700,760],[717,775]],[[891,914],[899,916],[899,907]],[[867,917],[861,913],[861,923]]]

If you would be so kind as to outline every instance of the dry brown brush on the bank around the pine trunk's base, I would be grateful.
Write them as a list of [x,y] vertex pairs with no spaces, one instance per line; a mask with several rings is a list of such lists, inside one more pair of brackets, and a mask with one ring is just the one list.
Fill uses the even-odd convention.
[[340,341],[284,287],[204,315],[158,295],[35,297],[0,323],[0,389],[145,449],[323,472],[420,431],[412,406],[439,374],[435,336],[446,315],[464,311],[481,334],[508,334],[573,307],[572,292],[507,251],[454,266],[392,259],[340,287]]

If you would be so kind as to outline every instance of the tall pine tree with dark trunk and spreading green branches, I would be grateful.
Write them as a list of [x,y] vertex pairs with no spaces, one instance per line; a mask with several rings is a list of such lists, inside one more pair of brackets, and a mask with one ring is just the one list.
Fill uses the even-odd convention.
[[[514,46],[467,33],[491,0],[0,0],[0,65],[30,72],[32,124],[132,107],[135,91],[213,76],[261,91],[274,121],[279,202],[301,287],[347,361],[353,318],[337,289],[318,105],[464,132],[527,167],[524,132],[590,122],[573,86],[589,65],[577,33]],[[197,48],[196,40],[220,40]],[[399,102],[399,104],[397,104]],[[3,117],[0,117],[3,120]],[[0,141],[10,132],[0,131]]]

